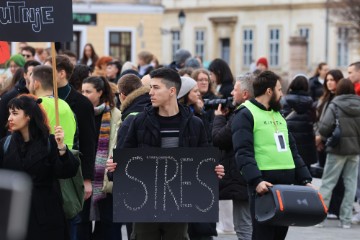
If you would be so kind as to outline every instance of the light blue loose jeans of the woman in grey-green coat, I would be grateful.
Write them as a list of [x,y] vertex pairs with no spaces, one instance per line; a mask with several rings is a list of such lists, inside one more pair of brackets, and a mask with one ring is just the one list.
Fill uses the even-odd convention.
[[329,206],[332,191],[342,173],[345,193],[340,206],[340,221],[350,224],[352,218],[352,207],[356,194],[358,176],[359,155],[336,155],[328,153],[320,193],[324,202]]

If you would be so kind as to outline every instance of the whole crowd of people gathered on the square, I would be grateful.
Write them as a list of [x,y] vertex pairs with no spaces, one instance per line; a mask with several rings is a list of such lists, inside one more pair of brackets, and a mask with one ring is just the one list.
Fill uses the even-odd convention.
[[[273,184],[312,185],[322,171],[320,193],[329,217],[342,228],[360,223],[360,62],[338,69],[320,63],[310,79],[292,76],[288,89],[265,57],[234,78],[229,65],[176,51],[159,65],[149,51],[137,63],[98,56],[92,44],[82,58],[56,56],[59,126],[54,111],[52,58],[21,46],[7,61],[0,88],[0,168],[26,172],[33,191],[27,240],[211,240],[216,223],[115,223],[114,148],[219,148],[219,199],[232,202],[237,238],[285,239],[288,227],[259,224],[255,196]],[[286,94],[283,94],[286,92]],[[336,126],[341,129],[338,141]],[[80,152],[75,156],[74,150]],[[59,179],[81,172],[84,202],[71,217]],[[210,173],[209,173],[210,174]],[[222,211],[222,209],[221,209]],[[323,227],[324,223],[318,225]]]

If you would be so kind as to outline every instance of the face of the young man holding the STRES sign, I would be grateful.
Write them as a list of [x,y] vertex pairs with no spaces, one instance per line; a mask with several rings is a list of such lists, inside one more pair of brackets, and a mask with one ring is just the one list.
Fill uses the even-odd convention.
[[161,78],[151,78],[150,99],[153,107],[163,107],[170,103],[172,97],[176,97],[175,87],[167,88]]

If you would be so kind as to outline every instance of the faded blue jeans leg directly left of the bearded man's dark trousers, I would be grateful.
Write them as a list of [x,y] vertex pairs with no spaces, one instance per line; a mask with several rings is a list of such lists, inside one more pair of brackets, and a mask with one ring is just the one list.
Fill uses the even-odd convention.
[[233,219],[238,240],[251,240],[252,223],[248,201],[233,200]]

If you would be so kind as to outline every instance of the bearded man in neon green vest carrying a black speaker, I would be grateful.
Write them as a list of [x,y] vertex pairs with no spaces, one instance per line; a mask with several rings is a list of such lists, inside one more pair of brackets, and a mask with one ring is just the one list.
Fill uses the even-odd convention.
[[253,222],[252,239],[285,239],[288,227],[259,224],[255,195],[273,184],[311,185],[310,173],[280,114],[280,77],[264,71],[255,79],[254,99],[243,103],[232,123],[232,140],[238,169],[248,184]]

